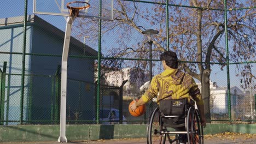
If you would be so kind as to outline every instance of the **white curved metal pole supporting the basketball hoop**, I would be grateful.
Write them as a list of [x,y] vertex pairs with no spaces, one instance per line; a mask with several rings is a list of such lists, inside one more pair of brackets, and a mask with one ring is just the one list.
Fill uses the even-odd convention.
[[69,51],[69,42],[71,37],[72,24],[75,17],[69,16],[66,23],[65,39],[63,44],[61,61],[61,105],[60,105],[60,137],[58,142],[67,142],[66,137],[66,103],[67,103],[67,60]]

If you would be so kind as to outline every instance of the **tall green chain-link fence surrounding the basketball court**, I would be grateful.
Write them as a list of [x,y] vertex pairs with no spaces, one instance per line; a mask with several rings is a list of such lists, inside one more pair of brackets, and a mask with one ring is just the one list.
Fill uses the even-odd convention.
[[[32,0],[3,4],[0,124],[59,124],[66,17],[33,15]],[[255,122],[253,1],[116,0],[113,7],[113,20],[73,22],[67,124],[147,123],[156,103],[139,117],[128,106],[147,89],[150,74],[162,72],[166,50],[177,53],[179,68],[201,88],[209,121]],[[158,33],[148,39],[148,29]]]

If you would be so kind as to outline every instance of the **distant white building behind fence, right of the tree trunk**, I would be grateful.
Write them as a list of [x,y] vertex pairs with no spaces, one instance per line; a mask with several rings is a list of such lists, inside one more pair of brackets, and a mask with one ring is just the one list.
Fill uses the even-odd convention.
[[[201,89],[201,83],[196,83]],[[216,82],[210,81],[210,109],[212,115],[228,115],[228,88],[219,87]],[[251,116],[253,106],[249,104],[249,97],[237,86],[230,87],[230,105],[232,119],[243,119]]]

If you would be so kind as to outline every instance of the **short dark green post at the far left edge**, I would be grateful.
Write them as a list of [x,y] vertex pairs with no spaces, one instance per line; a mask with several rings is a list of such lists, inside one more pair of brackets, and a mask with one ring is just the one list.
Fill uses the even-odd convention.
[[3,71],[1,71],[1,99],[0,99],[0,125],[4,123],[4,100],[5,100],[5,76],[6,76],[7,62],[3,64]]

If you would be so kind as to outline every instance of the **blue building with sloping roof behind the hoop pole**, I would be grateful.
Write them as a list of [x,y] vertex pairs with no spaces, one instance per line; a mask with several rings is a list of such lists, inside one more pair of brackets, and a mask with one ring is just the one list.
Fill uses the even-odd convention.
[[[65,32],[36,15],[27,18],[25,88],[21,102],[24,17],[0,19],[0,69],[7,62],[0,122],[58,123],[61,55]],[[92,118],[94,111],[94,59],[97,51],[71,38],[67,72],[67,123]],[[75,57],[78,56],[78,57]],[[23,111],[21,112],[21,105]],[[92,115],[92,114],[91,114]],[[22,117],[21,117],[22,116]]]

